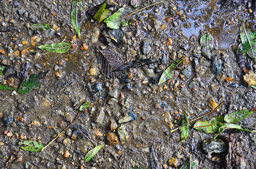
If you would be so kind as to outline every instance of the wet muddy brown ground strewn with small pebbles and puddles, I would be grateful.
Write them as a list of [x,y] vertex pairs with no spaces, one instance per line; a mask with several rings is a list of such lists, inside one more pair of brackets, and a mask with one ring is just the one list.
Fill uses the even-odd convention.
[[[119,45],[100,41],[100,34],[110,29],[88,15],[89,9],[104,1],[82,1],[81,38],[74,37],[77,34],[70,19],[72,1],[0,2],[0,64],[10,66],[0,75],[0,82],[18,88],[23,80],[18,77],[20,72],[24,71],[25,79],[32,74],[45,74],[39,86],[25,94],[0,90],[1,168],[152,168],[151,145],[159,168],[173,168],[168,164],[171,157],[176,159],[177,167],[191,157],[197,168],[225,168],[229,143],[233,144],[233,154],[241,159],[236,168],[255,168],[253,133],[225,131],[219,138],[227,150],[208,155],[202,150],[202,141],[214,134],[190,130],[182,143],[179,131],[169,132],[180,125],[185,109],[188,117],[194,118],[225,101],[216,112],[203,118],[206,120],[255,107],[255,89],[244,82],[244,72],[236,59],[241,24],[256,29],[254,1],[164,1],[135,14],[134,22],[121,28],[124,37]],[[108,1],[114,5],[113,11],[131,4],[142,8],[155,2]],[[29,29],[37,23],[54,26],[47,30]],[[200,37],[207,32],[215,39],[217,61],[221,62],[217,74],[211,68],[216,60],[207,59],[201,52]],[[70,42],[74,47],[65,54],[37,48],[58,42]],[[100,72],[95,46],[120,54],[124,63],[138,59],[156,63],[123,70],[117,78],[106,78]],[[187,57],[188,64],[175,69],[172,79],[157,85],[164,69],[181,57]],[[22,68],[24,63],[27,69]],[[252,60],[253,71],[255,68]],[[44,152],[20,149],[21,140],[48,144],[86,101],[91,101],[91,108],[74,123],[87,130],[93,143],[104,145],[91,161],[84,162],[84,155],[95,146],[85,137],[79,138],[71,128]],[[135,114],[135,120],[118,123],[127,110]],[[253,113],[238,124],[255,131],[255,119]],[[112,131],[115,124],[125,127],[129,137],[122,140],[117,130]],[[117,145],[109,145],[108,132],[118,136]]]

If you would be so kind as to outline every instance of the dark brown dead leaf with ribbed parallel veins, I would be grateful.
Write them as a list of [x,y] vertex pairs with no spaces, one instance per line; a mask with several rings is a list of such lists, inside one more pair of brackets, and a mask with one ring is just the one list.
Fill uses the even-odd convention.
[[98,62],[101,69],[101,73],[108,78],[114,78],[118,74],[117,72],[113,72],[117,68],[122,65],[121,57],[110,50],[100,50],[100,48],[96,47],[99,50]]

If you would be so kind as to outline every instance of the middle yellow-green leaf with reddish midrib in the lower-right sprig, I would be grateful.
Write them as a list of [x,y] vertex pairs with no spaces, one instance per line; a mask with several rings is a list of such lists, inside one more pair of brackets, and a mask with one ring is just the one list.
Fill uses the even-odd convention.
[[194,128],[200,132],[214,133],[218,131],[221,126],[224,126],[225,123],[223,120],[224,117],[220,115],[212,118],[210,121],[198,121],[194,124]]

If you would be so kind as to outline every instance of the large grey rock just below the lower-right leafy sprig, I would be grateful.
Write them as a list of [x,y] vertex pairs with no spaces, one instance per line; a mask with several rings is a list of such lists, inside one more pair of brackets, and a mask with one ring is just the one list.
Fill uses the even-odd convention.
[[223,140],[220,139],[206,139],[203,140],[202,147],[205,153],[223,153],[227,149],[227,145]]

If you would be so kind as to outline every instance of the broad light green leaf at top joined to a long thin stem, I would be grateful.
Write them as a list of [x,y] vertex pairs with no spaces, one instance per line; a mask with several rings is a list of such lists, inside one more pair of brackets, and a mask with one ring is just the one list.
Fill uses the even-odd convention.
[[123,20],[122,18],[126,15],[129,15],[130,12],[132,12],[133,9],[129,6],[122,7],[118,11],[116,11],[113,15],[109,16],[107,19],[105,19],[106,26],[108,26],[111,29],[119,29],[120,26],[127,25],[127,21]]

